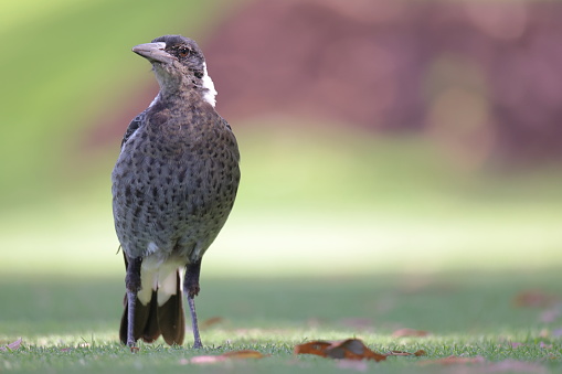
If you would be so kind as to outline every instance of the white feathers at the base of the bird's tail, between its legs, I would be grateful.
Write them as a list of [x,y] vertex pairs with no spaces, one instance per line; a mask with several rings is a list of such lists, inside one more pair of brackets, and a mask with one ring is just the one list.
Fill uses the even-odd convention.
[[[157,248],[155,243],[150,243],[148,248]],[[137,298],[146,306],[152,298],[152,290],[158,290],[158,304],[162,306],[170,296],[176,295],[177,271],[180,271],[180,290],[183,290],[183,268],[185,263],[178,258],[163,257],[161,253],[152,253],[142,259],[140,266],[140,284],[142,288],[138,291]]]

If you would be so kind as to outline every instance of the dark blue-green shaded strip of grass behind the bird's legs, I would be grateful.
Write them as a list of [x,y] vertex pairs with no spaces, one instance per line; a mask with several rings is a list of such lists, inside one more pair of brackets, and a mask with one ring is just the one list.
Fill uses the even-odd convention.
[[[123,279],[12,277],[1,281],[2,338],[115,331]],[[237,331],[340,331],[391,334],[401,328],[433,334],[501,334],[562,324],[555,310],[517,307],[528,289],[556,295],[556,271],[373,275],[332,278],[210,278],[197,300],[200,320],[219,317],[210,329]],[[558,293],[560,295],[560,292]],[[553,308],[550,306],[550,308]],[[298,332],[297,332],[298,333]],[[203,331],[204,335],[204,331]],[[322,338],[322,336],[318,336]]]

